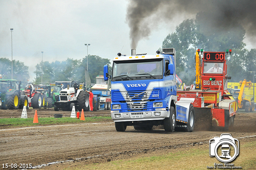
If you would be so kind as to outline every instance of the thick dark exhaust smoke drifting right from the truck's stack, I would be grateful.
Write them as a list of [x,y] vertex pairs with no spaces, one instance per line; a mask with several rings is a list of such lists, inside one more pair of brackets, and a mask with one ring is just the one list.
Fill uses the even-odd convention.
[[165,22],[168,27],[179,16],[200,16],[208,27],[220,31],[239,29],[242,25],[255,45],[255,9],[255,0],[130,0],[126,20],[130,27],[131,48],[136,48],[139,40],[157,29],[159,22]]

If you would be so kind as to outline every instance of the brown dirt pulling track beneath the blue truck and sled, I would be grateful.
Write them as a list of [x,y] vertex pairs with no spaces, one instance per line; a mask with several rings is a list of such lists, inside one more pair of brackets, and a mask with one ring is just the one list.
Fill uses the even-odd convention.
[[[20,117],[22,110],[0,110],[0,118]],[[38,117],[51,117],[54,110],[40,109]],[[58,113],[70,116],[70,112]],[[109,115],[110,111],[85,112],[85,116]],[[28,117],[34,110],[28,111]],[[229,132],[194,131],[165,132],[164,130],[138,131],[128,126],[126,132],[116,132],[114,123],[81,123],[21,128],[0,128],[0,165],[32,164],[65,161],[45,169],[62,169],[83,162],[107,162],[118,159],[159,155],[170,149],[208,146],[214,136],[230,133],[240,140],[256,141],[256,112],[238,112],[235,125]],[[253,136],[243,139],[245,136]],[[39,166],[40,167],[40,166]],[[6,168],[5,168],[6,169]]]

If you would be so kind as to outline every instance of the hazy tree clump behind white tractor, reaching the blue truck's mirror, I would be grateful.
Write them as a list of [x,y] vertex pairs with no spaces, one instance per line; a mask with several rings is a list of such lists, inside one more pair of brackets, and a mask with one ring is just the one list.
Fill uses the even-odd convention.
[[[82,60],[75,60],[68,58],[65,61],[55,61],[52,63],[41,62],[36,65],[36,82],[41,82],[43,64],[43,82],[44,84],[55,81],[72,81],[79,80],[85,82],[85,70],[87,70],[87,57]],[[106,58],[100,58],[99,56],[88,56],[88,72],[92,83],[96,82],[97,75],[103,75],[103,66],[110,65],[110,60]]]

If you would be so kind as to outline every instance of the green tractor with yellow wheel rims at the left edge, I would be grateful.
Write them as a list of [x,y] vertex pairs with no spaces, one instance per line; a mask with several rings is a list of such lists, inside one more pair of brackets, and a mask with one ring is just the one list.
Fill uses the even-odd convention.
[[13,79],[0,79],[0,108],[18,109],[26,106],[28,109],[28,97],[21,93],[20,84]]

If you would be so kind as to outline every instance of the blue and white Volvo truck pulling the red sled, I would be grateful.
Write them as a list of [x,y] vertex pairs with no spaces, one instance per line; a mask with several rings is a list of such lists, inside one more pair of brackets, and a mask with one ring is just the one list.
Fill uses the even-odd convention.
[[112,73],[104,66],[104,80],[111,80],[111,118],[118,132],[127,126],[152,130],[163,125],[173,132],[194,130],[194,98],[177,101],[175,49],[163,48],[156,54],[131,56],[118,53],[113,58]]

